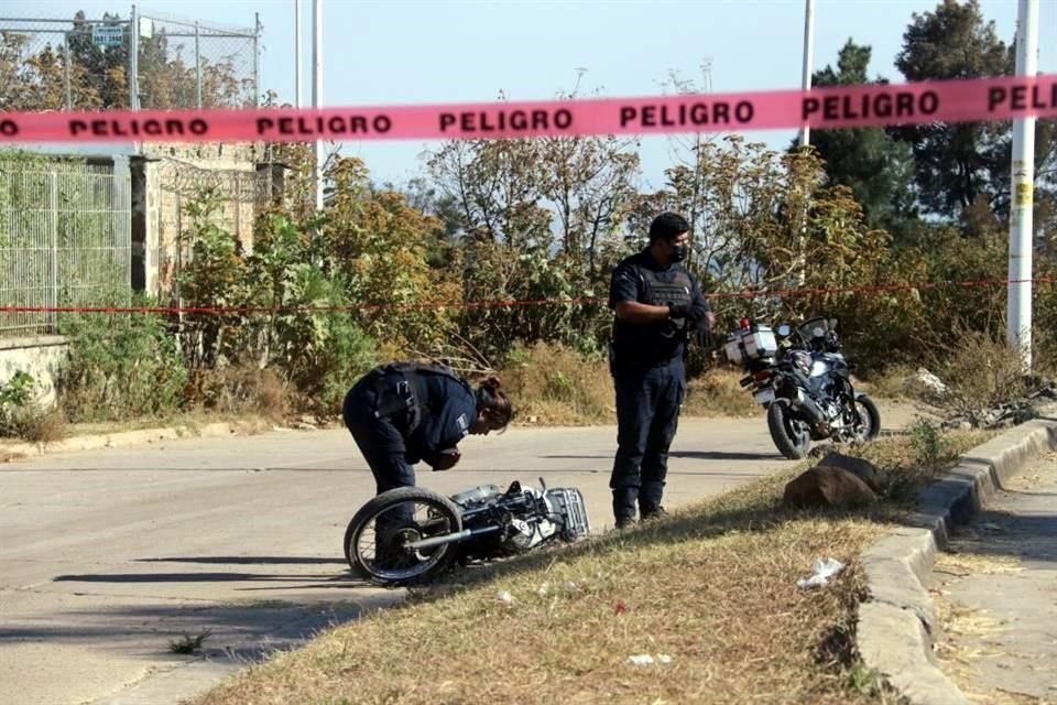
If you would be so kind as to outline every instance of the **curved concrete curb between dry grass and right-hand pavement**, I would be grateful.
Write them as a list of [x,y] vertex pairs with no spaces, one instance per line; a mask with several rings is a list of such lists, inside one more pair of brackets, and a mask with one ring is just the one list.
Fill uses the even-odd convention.
[[860,605],[857,646],[868,669],[912,705],[971,705],[936,664],[933,601],[925,583],[949,529],[973,518],[998,488],[1032,458],[1057,448],[1057,409],[1015,426],[961,456],[918,496],[909,525],[863,552],[869,599]]

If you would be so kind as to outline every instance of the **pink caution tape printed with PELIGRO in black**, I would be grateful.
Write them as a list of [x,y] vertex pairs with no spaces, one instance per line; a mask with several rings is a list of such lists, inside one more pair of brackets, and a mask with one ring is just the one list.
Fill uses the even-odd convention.
[[0,112],[0,143],[652,134],[1057,116],[1057,75],[741,94],[381,108]]

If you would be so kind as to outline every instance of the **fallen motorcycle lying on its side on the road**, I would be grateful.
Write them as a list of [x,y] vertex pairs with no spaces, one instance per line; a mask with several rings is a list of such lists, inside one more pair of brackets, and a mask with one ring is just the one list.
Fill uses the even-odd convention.
[[575,488],[506,491],[481,485],[450,498],[423,487],[374,497],[345,532],[353,572],[388,587],[421,585],[454,564],[492,561],[590,533],[584,495]]

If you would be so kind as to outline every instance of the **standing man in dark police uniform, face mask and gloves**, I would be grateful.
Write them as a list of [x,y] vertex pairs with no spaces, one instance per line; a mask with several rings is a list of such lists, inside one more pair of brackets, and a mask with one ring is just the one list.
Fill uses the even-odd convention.
[[617,457],[609,486],[617,528],[664,511],[668,447],[686,394],[686,345],[704,343],[716,321],[686,259],[690,225],[662,213],[650,225],[650,247],[613,270],[610,371],[617,390]]

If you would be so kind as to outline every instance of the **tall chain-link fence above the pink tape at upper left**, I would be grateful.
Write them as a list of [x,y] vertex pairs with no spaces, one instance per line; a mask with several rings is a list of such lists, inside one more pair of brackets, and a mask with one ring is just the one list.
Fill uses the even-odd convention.
[[134,8],[124,19],[0,18],[0,110],[254,106],[259,41],[257,20],[225,28]]

